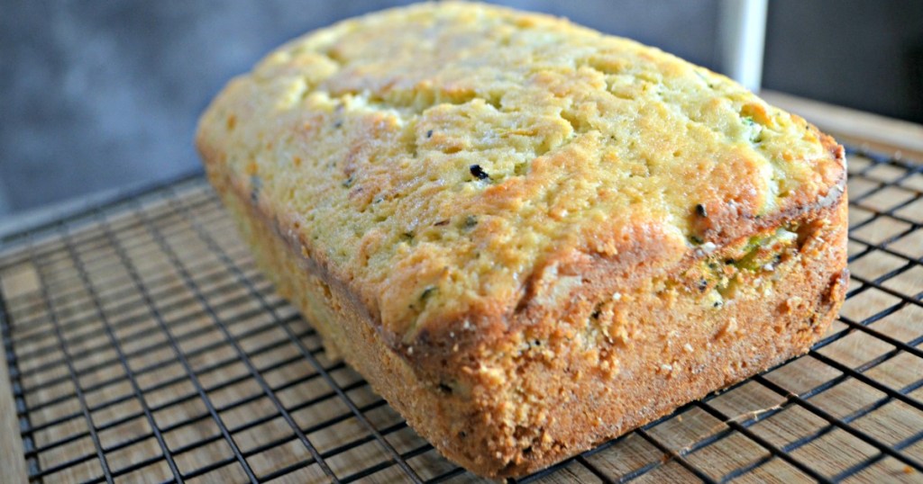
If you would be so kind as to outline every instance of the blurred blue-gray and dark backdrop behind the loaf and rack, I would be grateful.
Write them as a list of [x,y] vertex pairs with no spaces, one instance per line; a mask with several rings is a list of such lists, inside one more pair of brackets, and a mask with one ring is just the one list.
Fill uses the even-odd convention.
[[[192,171],[232,76],[386,0],[0,0],[0,221]],[[717,68],[718,1],[497,2]],[[923,1],[773,0],[763,87],[923,123]],[[77,197],[77,198],[76,198]]]

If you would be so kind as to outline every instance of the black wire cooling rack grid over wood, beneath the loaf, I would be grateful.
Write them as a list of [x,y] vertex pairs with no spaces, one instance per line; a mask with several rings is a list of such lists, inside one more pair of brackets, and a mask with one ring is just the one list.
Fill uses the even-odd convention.
[[[923,478],[923,167],[849,158],[853,276],[809,355],[520,481]],[[4,247],[30,481],[475,479],[327,358],[200,175]]]

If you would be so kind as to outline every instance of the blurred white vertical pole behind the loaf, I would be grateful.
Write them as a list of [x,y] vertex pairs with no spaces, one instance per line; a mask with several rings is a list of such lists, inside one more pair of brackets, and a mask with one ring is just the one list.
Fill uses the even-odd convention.
[[721,68],[747,89],[760,90],[768,0],[722,0]]

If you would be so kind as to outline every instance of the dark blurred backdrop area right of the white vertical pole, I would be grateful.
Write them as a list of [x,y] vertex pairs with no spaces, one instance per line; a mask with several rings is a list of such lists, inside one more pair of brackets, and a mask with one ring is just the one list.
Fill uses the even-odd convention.
[[923,124],[923,1],[772,0],[762,84]]

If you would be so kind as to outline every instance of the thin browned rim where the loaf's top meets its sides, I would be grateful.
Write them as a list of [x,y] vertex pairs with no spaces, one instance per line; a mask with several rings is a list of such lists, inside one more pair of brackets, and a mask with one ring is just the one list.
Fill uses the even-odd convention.
[[[824,188],[819,190],[819,193],[805,190],[797,191],[786,200],[783,210],[775,212],[769,217],[760,217],[751,213],[741,213],[737,214],[737,218],[734,219],[715,219],[713,221],[719,225],[725,227],[733,226],[736,227],[736,229],[730,231],[713,231],[706,228],[702,230],[702,235],[706,236],[707,240],[713,242],[719,248],[730,246],[754,234],[766,230],[773,230],[786,223],[815,217],[817,214],[824,212],[826,208],[835,207],[843,203],[845,199],[846,183],[845,150],[836,143],[832,136],[821,133],[813,124],[807,125],[809,129],[821,139],[821,144],[826,152],[830,154],[830,159],[819,161],[819,166],[822,166],[822,169],[818,174],[819,180],[817,182],[824,186]],[[216,186],[220,184],[228,189],[234,190],[237,192],[237,195],[249,198],[249,188],[246,180],[234,179],[232,173],[223,171],[224,167],[222,165],[226,155],[220,148],[210,146],[204,134],[205,130],[200,128],[196,145],[202,159],[205,161],[211,183]],[[809,199],[809,197],[814,197],[814,199]],[[283,214],[276,213],[273,207],[270,207],[267,200],[263,197],[259,197],[256,205],[260,217],[272,220],[272,230],[276,231],[292,246],[300,247],[301,254],[303,254],[309,262],[310,270],[321,274],[330,284],[339,284],[340,281],[343,280],[343,277],[337,274],[336,267],[331,266],[330,261],[327,260],[324,254],[314,251],[312,249],[312,244],[305,239],[304,234],[292,227],[293,220],[283,218]],[[573,258],[574,255],[588,255],[593,258],[593,264],[581,264],[583,270],[618,274],[624,276],[625,281],[623,282],[649,277],[650,270],[648,267],[644,267],[644,263],[646,262],[645,259],[658,256],[659,254],[656,254],[656,250],[647,247],[639,251],[637,247],[632,247],[632,245],[637,246],[636,241],[622,241],[620,245],[620,254],[615,258],[599,256],[599,254],[593,254],[592,249],[583,248],[586,254],[563,254],[563,256],[558,254],[546,260],[542,266],[560,262],[559,259],[562,257],[567,259]],[[686,267],[693,265],[701,258],[701,253],[697,253],[695,250],[689,250],[683,255],[682,259],[675,266],[671,266],[670,269],[675,271],[685,270]],[[378,331],[382,334],[382,337],[391,348],[404,352],[409,359],[415,358],[419,360],[421,357],[427,355],[428,348],[434,348],[436,354],[432,356],[440,357],[441,355],[439,353],[442,352],[444,348],[452,348],[458,345],[462,350],[469,350],[482,346],[485,340],[490,340],[502,334],[520,330],[521,325],[523,323],[528,323],[530,319],[528,314],[523,314],[523,310],[527,308],[530,300],[534,296],[533,285],[541,269],[542,267],[536,267],[533,274],[525,278],[523,287],[520,291],[520,301],[514,304],[512,313],[504,312],[504,306],[494,304],[487,306],[494,311],[469,309],[464,313],[444,314],[443,319],[439,321],[428,321],[423,330],[416,334],[411,342],[415,346],[416,357],[406,354],[408,340],[404,337],[405,335],[392,334],[382,325],[381,315],[378,312],[378,308],[375,307],[374,301],[363,300],[362,295],[357,291],[351,290],[350,292],[353,294],[356,303],[366,308],[369,322],[378,328]],[[609,290],[611,289],[612,288],[609,288]],[[373,302],[372,306],[369,306],[369,302]],[[466,320],[473,322],[472,325],[478,327],[479,331],[477,333],[465,333],[460,331],[460,329],[462,329],[459,327],[461,322]],[[452,334],[455,336],[450,336]]]

